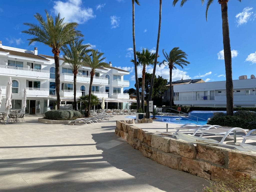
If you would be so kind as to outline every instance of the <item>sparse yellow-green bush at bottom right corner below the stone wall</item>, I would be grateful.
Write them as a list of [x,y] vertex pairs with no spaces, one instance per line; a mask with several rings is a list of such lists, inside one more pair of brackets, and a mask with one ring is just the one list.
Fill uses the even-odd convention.
[[255,192],[256,180],[252,178],[245,178],[241,180],[231,181],[211,181],[209,180],[209,186],[205,186],[203,192]]

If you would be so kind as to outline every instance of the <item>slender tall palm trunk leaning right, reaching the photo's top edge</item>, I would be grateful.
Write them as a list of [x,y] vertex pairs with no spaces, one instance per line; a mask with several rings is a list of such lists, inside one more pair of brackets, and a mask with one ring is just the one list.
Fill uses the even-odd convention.
[[157,42],[156,42],[156,57],[155,57],[153,74],[152,74],[150,90],[149,90],[149,95],[148,95],[148,100],[147,100],[146,118],[149,118],[148,102],[152,100],[153,85],[154,85],[154,79],[155,79],[155,73],[156,73],[156,63],[157,63],[157,56],[158,56],[159,39],[160,39],[160,30],[161,30],[161,18],[162,18],[162,0],[159,0],[159,23],[158,23]]

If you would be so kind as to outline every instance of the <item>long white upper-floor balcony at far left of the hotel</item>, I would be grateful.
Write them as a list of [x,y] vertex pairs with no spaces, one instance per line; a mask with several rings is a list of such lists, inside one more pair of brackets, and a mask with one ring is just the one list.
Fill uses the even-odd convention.
[[40,69],[30,69],[24,67],[15,67],[0,65],[0,75],[11,77],[25,77],[25,78],[37,78],[37,79],[49,79],[50,71]]

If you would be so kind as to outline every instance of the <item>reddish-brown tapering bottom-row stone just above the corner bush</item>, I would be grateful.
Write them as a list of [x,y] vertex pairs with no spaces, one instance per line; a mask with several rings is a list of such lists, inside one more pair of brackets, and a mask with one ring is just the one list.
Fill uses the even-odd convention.
[[211,180],[214,179],[220,179],[223,181],[228,181],[228,180],[240,180],[243,178],[249,178],[250,174],[240,172],[240,171],[235,171],[231,169],[225,169],[222,167],[216,167],[212,165],[211,167]]

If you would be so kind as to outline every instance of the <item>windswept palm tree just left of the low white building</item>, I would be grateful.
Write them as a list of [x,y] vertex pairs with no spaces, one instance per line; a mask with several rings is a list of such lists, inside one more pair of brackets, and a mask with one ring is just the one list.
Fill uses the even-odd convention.
[[177,69],[176,65],[180,66],[183,69],[183,66],[187,66],[190,62],[186,61],[187,54],[179,49],[179,47],[174,47],[169,54],[167,52],[164,52],[163,54],[165,59],[159,64],[159,67],[164,64],[169,66],[170,70],[170,108],[172,108],[172,72],[173,69]]

